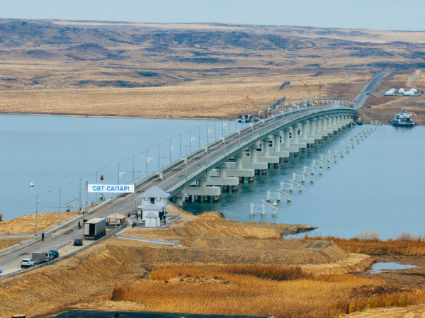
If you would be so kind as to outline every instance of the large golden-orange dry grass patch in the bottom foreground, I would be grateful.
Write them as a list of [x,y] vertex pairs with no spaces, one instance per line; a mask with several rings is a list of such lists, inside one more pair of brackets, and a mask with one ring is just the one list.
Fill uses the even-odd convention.
[[[276,266],[261,270],[276,273]],[[425,292],[386,289],[380,280],[353,276],[298,276],[293,280],[258,276],[258,268],[173,264],[155,269],[149,279],[115,286],[111,299],[142,304],[149,311],[276,317],[335,317],[425,300]]]

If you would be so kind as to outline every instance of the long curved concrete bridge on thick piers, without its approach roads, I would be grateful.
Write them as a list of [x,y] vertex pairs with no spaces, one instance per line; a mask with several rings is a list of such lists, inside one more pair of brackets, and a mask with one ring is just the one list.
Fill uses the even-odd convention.
[[[329,103],[328,103],[329,104]],[[339,106],[344,104],[344,106]],[[278,111],[176,159],[136,182],[146,190],[159,186],[176,204],[186,200],[219,200],[221,191],[237,189],[280,161],[297,156],[353,122],[356,110],[346,101],[332,106]]]

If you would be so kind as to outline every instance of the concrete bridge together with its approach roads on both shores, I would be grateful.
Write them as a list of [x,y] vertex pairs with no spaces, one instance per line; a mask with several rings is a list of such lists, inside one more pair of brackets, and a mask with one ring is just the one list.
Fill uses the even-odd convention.
[[[171,193],[178,205],[185,200],[219,200],[226,189],[236,189],[239,181],[253,181],[256,174],[267,173],[290,156],[307,151],[315,143],[338,133],[353,122],[356,108],[361,107],[367,93],[385,76],[378,74],[363,90],[356,103],[351,101],[314,100],[280,105],[268,111],[268,118],[230,132],[217,140],[193,150],[186,156],[171,161],[147,176],[137,178],[137,193],[159,186]],[[315,105],[315,106],[312,106]],[[270,113],[271,111],[271,113]],[[264,114],[265,115],[265,114]],[[235,192],[237,193],[237,191]],[[237,194],[235,194],[237,195]],[[135,198],[132,195],[131,198]],[[89,211],[91,217],[106,217],[113,212],[128,213],[129,195],[117,195],[116,205],[108,200]],[[86,215],[67,222],[49,232],[45,241],[35,237],[26,244],[0,253],[0,268],[4,274],[20,268],[21,259],[38,250],[60,249],[71,245],[73,239],[83,238],[77,222]]]

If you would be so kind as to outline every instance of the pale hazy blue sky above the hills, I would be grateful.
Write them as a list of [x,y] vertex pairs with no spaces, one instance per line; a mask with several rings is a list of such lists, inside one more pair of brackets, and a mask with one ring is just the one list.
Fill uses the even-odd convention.
[[425,31],[424,3],[424,0],[2,0],[0,17]]

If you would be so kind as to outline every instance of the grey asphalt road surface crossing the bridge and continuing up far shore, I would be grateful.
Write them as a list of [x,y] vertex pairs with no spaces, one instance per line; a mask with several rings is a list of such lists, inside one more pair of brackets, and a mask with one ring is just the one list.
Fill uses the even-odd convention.
[[[361,105],[363,105],[364,101],[368,97],[367,93],[371,92],[376,84],[382,79],[383,76],[385,76],[388,72],[382,72],[378,76],[375,76],[375,78],[370,81],[366,89],[361,94],[360,98],[356,102],[357,108],[359,108]],[[274,125],[277,125],[278,123],[282,123],[283,120],[288,120],[289,118],[295,118],[298,115],[305,113],[305,111],[310,110],[308,109],[302,109],[300,112],[296,112],[293,114],[285,115],[285,118],[278,118],[275,120],[269,120],[264,125],[257,125],[254,126],[254,135],[256,132],[260,132],[261,130],[267,129],[268,127],[272,127]],[[249,140],[252,135],[252,130],[245,130],[241,133],[240,140]],[[232,137],[229,137],[226,139],[226,145],[222,142],[218,144],[214,144],[210,147],[208,147],[208,158],[212,159],[213,157],[216,157],[217,155],[224,152],[225,147],[226,149],[229,149],[230,147],[234,146],[235,144],[239,143],[239,135],[234,135]],[[187,169],[188,171],[193,171],[194,169],[198,168],[198,166],[201,166],[207,161],[207,154],[206,152],[195,154],[188,158],[187,160]],[[168,186],[171,185],[171,183],[174,183],[174,181],[179,180],[179,178],[186,176],[186,164],[184,162],[181,162],[179,164],[176,164],[175,166],[172,166],[171,168],[164,171],[163,174],[163,186],[164,189],[166,189]],[[150,188],[152,186],[162,186],[162,181],[160,176],[156,176],[154,178],[151,178],[149,181],[146,181],[143,183],[142,188],[144,190],[147,190],[147,188]],[[130,195],[125,195],[123,197],[118,198],[117,204],[116,204],[116,210],[118,213],[125,215],[129,211],[129,200],[131,200],[131,205],[134,208],[135,206],[135,196],[140,194],[140,188],[137,189],[137,192]],[[129,198],[130,197],[130,198]],[[114,209],[115,204],[113,202],[109,203],[103,208],[100,208],[98,211],[92,213],[91,215],[87,216],[87,219],[92,219],[94,217],[107,217],[108,215],[111,215],[115,212]],[[82,225],[82,221],[81,221]],[[68,227],[64,229],[60,229],[59,231],[50,234],[48,237],[45,237],[45,241],[41,242],[35,242],[33,244],[30,244],[28,246],[23,247],[22,249],[18,249],[16,251],[11,252],[10,254],[6,254],[4,256],[0,256],[0,269],[3,270],[3,273],[11,273],[13,271],[17,271],[18,269],[21,269],[21,261],[22,259],[26,259],[31,256],[31,253],[34,251],[49,251],[50,249],[57,249],[60,252],[60,255],[68,254],[71,251],[74,251],[75,249],[79,249],[78,246],[73,246],[74,239],[84,238],[84,232],[83,229],[78,229],[78,222],[74,222],[73,224],[69,225]],[[91,241],[83,241],[85,244],[90,244]]]

